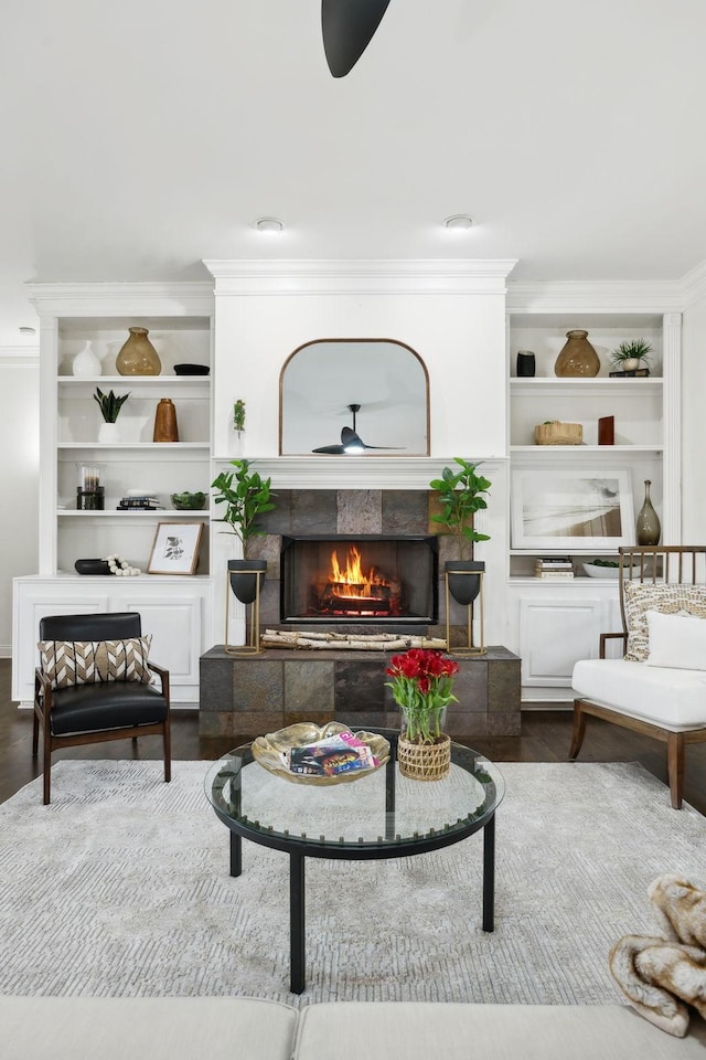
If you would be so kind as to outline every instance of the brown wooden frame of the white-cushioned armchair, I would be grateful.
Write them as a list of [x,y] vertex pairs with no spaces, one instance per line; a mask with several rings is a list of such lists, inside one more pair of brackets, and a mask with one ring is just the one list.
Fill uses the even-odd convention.
[[[698,556],[706,556],[706,545],[633,545],[618,550],[620,566],[618,577],[620,582],[620,615],[622,633],[601,633],[599,657],[606,658],[606,646],[609,640],[622,640],[623,653],[628,646],[628,622],[625,617],[624,584],[638,568],[638,577],[642,584],[657,584],[668,582],[673,585],[702,584],[698,577]],[[586,699],[574,700],[574,731],[569,759],[576,759],[584,736],[588,716],[602,718],[603,721],[630,729],[646,736],[652,736],[666,743],[667,780],[670,797],[674,809],[682,808],[684,793],[684,749],[689,743],[706,742],[706,725],[703,729],[673,730],[654,724],[640,718],[631,718],[600,703],[592,703]]]

